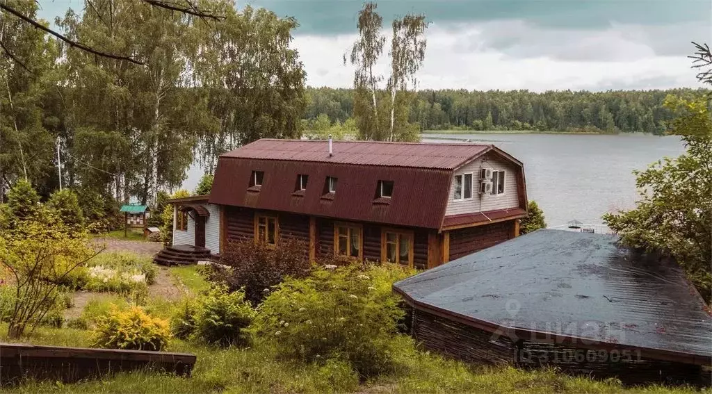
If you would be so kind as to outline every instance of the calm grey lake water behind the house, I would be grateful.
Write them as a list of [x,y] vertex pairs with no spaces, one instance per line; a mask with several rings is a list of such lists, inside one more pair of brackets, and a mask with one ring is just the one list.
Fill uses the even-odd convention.
[[[645,134],[424,134],[424,142],[494,144],[524,163],[527,196],[550,227],[577,219],[602,224],[601,215],[633,208],[634,169],[684,151],[679,137]],[[183,187],[193,190],[203,171],[194,164]]]

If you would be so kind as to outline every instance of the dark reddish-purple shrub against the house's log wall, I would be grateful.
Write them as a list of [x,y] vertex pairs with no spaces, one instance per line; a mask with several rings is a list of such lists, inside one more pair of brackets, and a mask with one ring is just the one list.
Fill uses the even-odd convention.
[[[221,265],[211,265],[208,279],[226,284],[230,290],[244,289],[253,305],[286,277],[305,277],[311,268],[309,247],[298,240],[282,240],[278,247],[251,240],[234,241],[221,253]],[[227,267],[227,268],[226,268]]]

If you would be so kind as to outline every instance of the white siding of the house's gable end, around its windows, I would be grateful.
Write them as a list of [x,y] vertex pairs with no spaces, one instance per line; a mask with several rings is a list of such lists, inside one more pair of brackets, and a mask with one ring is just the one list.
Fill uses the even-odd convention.
[[[480,169],[491,168],[494,171],[505,171],[503,194],[480,194]],[[496,154],[486,154],[456,169],[454,176],[472,174],[472,198],[455,201],[455,179],[450,183],[450,194],[445,215],[460,215],[462,213],[476,213],[493,211],[496,209],[517,208],[519,194],[517,187],[516,165]]]

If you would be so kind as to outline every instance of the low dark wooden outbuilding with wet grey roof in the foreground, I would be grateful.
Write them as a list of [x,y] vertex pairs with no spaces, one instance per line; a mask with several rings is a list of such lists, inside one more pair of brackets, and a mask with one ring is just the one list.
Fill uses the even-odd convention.
[[431,351],[627,384],[703,383],[712,319],[679,265],[617,235],[536,230],[393,284]]

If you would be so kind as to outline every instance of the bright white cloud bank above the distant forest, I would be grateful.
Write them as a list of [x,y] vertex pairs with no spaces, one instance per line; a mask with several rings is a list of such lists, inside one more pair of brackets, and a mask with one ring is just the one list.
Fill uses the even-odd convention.
[[[669,37],[666,50],[660,50],[657,38],[662,32],[671,30],[633,25],[545,30],[523,21],[433,25],[427,33],[419,88],[544,91],[701,86],[683,54],[684,48],[691,51],[689,39],[694,37]],[[295,36],[308,85],[350,87],[353,68],[343,65],[342,55],[354,40],[355,35]],[[384,52],[379,72],[386,75]]]

